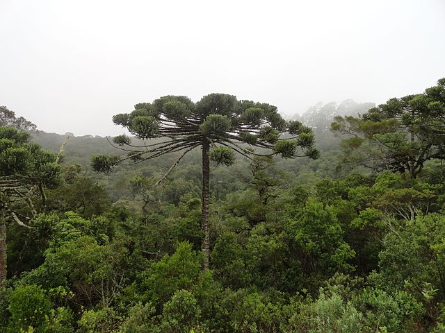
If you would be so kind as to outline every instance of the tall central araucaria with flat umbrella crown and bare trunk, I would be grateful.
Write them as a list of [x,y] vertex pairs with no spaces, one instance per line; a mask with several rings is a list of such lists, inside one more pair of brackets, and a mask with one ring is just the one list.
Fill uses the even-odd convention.
[[[135,146],[127,135],[114,137],[114,144],[129,154],[123,158],[96,155],[92,158],[92,167],[96,171],[110,171],[124,161],[140,162],[181,151],[178,160],[157,184],[186,153],[201,147],[204,268],[209,268],[210,253],[210,160],[231,165],[236,153],[248,159],[258,155],[281,155],[284,158],[317,158],[319,155],[311,128],[298,121],[284,121],[273,105],[238,101],[236,96],[228,94],[209,94],[197,103],[186,96],[164,96],[153,103],[137,104],[133,112],[116,114],[113,122],[144,141],[160,140]],[[285,133],[288,134],[284,137]]]

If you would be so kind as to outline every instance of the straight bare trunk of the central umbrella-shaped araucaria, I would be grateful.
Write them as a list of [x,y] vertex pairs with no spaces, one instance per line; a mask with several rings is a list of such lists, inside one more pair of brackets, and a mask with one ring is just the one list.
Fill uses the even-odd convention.
[[202,239],[202,253],[204,259],[202,267],[209,269],[210,257],[210,234],[209,234],[209,177],[210,177],[210,160],[209,160],[209,141],[204,137],[202,139],[202,217],[201,228],[204,232]]

